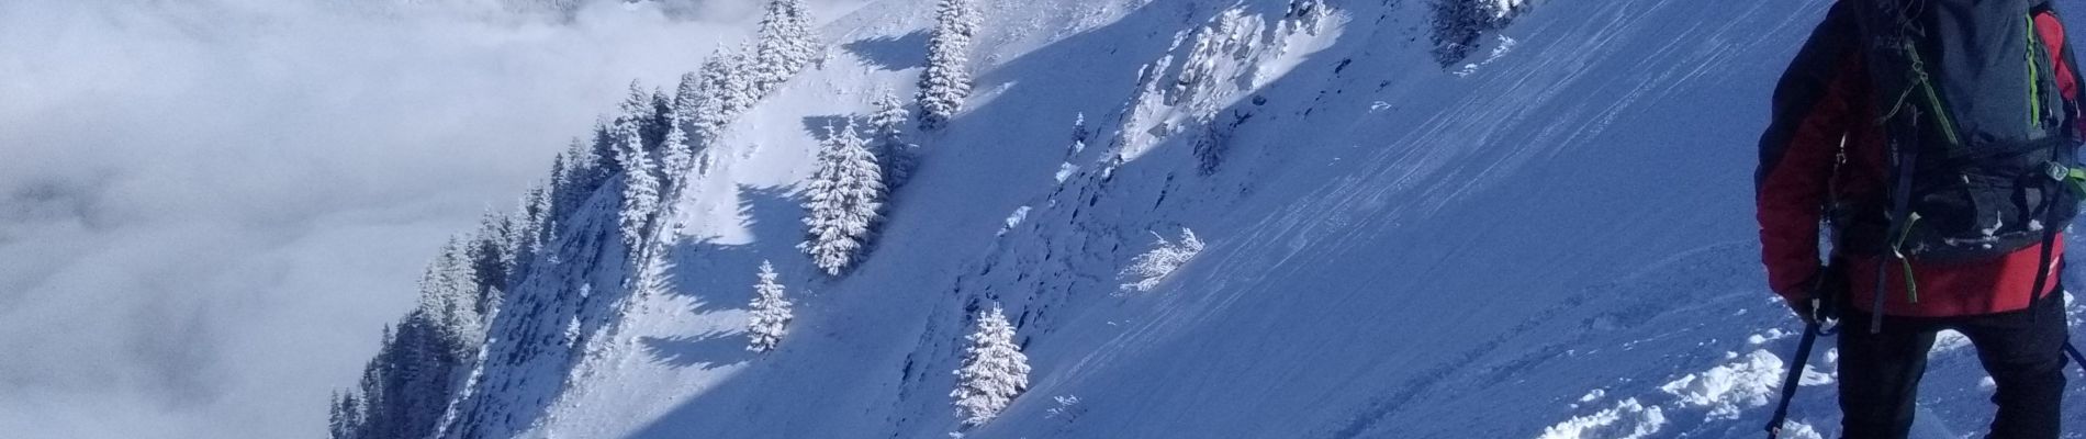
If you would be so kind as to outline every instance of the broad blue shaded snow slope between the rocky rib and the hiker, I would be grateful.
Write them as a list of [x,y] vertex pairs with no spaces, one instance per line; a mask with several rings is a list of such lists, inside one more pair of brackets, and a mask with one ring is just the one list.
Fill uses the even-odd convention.
[[[1564,402],[1644,381],[1660,389],[1608,395],[1673,406],[1660,437],[1756,435],[1765,422],[1756,391],[1779,372],[1777,360],[1754,352],[1790,345],[1754,347],[1748,335],[1779,337],[1767,331],[1794,322],[1758,287],[1756,250],[1736,243],[1752,239],[1752,139],[1767,89],[1819,17],[1821,4],[1806,6],[1554,2],[1508,29],[1523,42],[1521,58],[1464,83],[1414,87],[1391,75],[1391,83],[1327,87],[1379,89],[1362,100],[1381,104],[1331,98],[1316,106],[1318,123],[1291,127],[1335,135],[1285,135],[1362,148],[1291,158],[1323,166],[1308,181],[1258,187],[1295,200],[1241,208],[1275,212],[1268,218],[1197,225],[1216,243],[1172,289],[1195,298],[1068,325],[1093,329],[1089,339],[1129,333],[1076,354],[1099,364],[1039,368],[1049,379],[1030,395],[1076,395],[1085,412],[1076,422],[1051,418],[1058,404],[1026,397],[987,433],[1533,437],[1581,414]],[[1400,71],[1396,62],[1358,56],[1348,69],[1381,75]],[[1408,106],[1418,112],[1402,112]],[[1675,256],[1696,260],[1669,270],[1692,273],[1635,275]],[[1667,287],[1629,291],[1642,302],[1575,293],[1633,275]],[[1554,339],[1592,316],[1606,316],[1596,327],[1642,327]],[[1110,329],[1118,320],[1141,325]],[[1037,358],[1060,354],[1039,345]],[[1560,364],[1544,350],[1585,360]],[[1946,387],[1946,372],[1936,366],[1930,387]],[[1688,375],[1736,381],[1683,383]],[[1984,404],[1938,395],[1946,399],[1930,404],[1946,410]],[[1829,393],[1806,393],[1819,397]],[[1817,404],[1804,412],[1832,414]],[[1978,416],[1927,416],[1927,424],[1975,431]]]

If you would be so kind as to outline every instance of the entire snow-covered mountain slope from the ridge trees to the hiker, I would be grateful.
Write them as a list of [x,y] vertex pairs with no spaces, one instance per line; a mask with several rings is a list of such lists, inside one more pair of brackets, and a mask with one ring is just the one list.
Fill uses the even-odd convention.
[[[970,437],[1758,435],[1796,322],[1761,281],[1754,139],[1823,2],[1550,0],[1452,69],[1427,2],[980,6],[978,94],[916,137],[862,266],[795,250],[797,187],[828,121],[912,89],[928,2],[828,23],[828,60],[707,150],[672,293],[620,287],[613,198],[563,225],[448,433],[943,437],[999,304],[1033,385]],[[1187,229],[1204,252],[1122,289]],[[751,354],[761,260],[797,320]],[[1975,360],[1936,356],[1917,437],[1975,433]],[[1798,437],[1836,433],[1829,358]]]

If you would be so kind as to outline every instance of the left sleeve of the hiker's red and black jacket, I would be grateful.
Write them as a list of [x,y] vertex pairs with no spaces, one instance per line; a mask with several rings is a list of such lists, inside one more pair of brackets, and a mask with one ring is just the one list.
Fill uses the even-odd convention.
[[1813,31],[1775,85],[1773,117],[1761,135],[1754,173],[1761,262],[1767,285],[1784,298],[1804,293],[1819,268],[1819,221],[1834,158],[1854,121],[1861,62],[1840,6]]

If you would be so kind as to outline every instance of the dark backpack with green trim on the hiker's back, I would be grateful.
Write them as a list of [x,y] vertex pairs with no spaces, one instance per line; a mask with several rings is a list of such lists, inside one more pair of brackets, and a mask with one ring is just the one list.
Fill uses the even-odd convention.
[[1886,254],[1907,268],[1990,260],[2069,225],[2078,198],[2061,193],[2086,171],[2034,25],[2048,0],[1850,2],[1890,148]]

